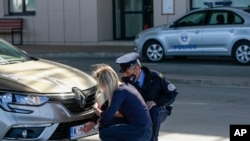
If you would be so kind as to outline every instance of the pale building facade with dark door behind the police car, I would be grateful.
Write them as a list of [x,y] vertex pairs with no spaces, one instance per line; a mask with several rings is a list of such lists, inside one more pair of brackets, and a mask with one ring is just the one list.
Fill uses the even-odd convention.
[[[23,44],[81,45],[132,40],[204,1],[213,0],[0,0],[0,18],[23,19]],[[249,0],[232,3],[250,5]],[[8,34],[0,37],[11,40]]]

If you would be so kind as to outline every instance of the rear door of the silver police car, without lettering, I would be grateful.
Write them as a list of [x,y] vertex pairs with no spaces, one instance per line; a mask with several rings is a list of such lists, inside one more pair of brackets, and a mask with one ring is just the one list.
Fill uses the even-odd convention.
[[203,54],[226,55],[231,52],[231,43],[237,28],[230,19],[231,15],[237,16],[227,10],[209,10],[207,25],[200,33],[202,36],[200,50]]

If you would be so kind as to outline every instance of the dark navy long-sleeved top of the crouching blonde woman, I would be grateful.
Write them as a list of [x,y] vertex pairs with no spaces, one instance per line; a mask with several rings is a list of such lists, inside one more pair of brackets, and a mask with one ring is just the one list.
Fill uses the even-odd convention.
[[131,84],[121,84],[115,90],[110,106],[101,113],[100,126],[110,126],[117,111],[128,124],[144,128],[152,126],[149,110],[140,93]]

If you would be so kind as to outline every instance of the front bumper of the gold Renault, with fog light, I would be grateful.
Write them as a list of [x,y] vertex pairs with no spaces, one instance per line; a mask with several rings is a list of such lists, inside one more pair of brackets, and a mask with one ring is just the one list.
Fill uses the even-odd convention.
[[70,127],[89,121],[94,111],[72,114],[60,103],[40,107],[16,106],[32,110],[31,114],[6,112],[0,109],[1,140],[59,140],[69,138]]

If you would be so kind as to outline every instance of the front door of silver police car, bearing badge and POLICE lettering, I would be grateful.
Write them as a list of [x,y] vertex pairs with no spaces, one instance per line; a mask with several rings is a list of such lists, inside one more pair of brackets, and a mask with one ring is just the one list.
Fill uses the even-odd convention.
[[167,53],[169,55],[188,55],[196,52],[201,46],[202,25],[205,21],[207,10],[187,14],[170,26],[166,35]]

